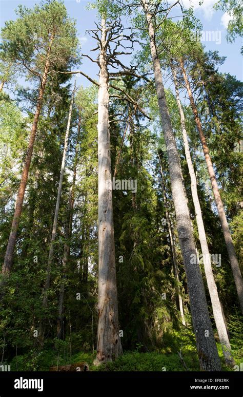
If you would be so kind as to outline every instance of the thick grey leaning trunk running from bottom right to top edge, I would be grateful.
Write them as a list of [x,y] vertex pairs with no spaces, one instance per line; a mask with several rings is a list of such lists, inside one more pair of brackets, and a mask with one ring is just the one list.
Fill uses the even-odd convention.
[[220,371],[221,365],[213,335],[212,325],[210,322],[199,264],[192,264],[191,262],[192,255],[196,257],[196,249],[192,236],[188,205],[183,189],[183,176],[180,170],[179,156],[165,98],[165,89],[162,80],[160,62],[157,55],[152,15],[149,12],[146,0],[142,0],[142,3],[148,25],[155,88],[157,92],[161,123],[164,130],[168,153],[169,172],[177,220],[178,238],[187,275],[188,293],[190,298],[192,322],[196,336],[199,363],[200,367],[204,370]]

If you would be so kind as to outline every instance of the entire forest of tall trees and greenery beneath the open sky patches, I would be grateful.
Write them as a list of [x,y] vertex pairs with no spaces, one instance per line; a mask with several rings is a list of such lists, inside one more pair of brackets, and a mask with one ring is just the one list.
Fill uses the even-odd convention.
[[66,2],[2,29],[0,365],[238,371],[242,83],[183,2],[87,9],[86,54]]

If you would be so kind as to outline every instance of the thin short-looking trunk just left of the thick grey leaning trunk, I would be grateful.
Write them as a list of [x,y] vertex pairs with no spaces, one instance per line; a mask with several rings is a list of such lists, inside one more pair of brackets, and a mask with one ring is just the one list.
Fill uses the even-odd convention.
[[174,244],[172,226],[171,226],[171,223],[170,223],[170,217],[169,217],[169,212],[168,212],[163,167],[162,167],[162,164],[161,164],[161,159],[160,159],[159,154],[158,154],[158,157],[159,157],[159,162],[160,162],[161,185],[162,185],[162,191],[163,191],[164,206],[165,206],[165,211],[166,211],[166,223],[167,223],[167,227],[168,227],[168,231],[169,231],[170,245],[171,245],[172,259],[173,259],[173,268],[174,268],[174,275],[175,275],[175,281],[176,281],[175,290],[176,290],[176,295],[178,297],[178,303],[179,303],[179,305],[178,305],[179,308],[178,309],[180,311],[181,323],[183,323],[183,325],[186,325],[184,309],[183,309],[183,299],[182,299],[181,292],[180,292],[180,287],[179,287],[179,272],[178,272],[178,266],[177,266],[175,244]]

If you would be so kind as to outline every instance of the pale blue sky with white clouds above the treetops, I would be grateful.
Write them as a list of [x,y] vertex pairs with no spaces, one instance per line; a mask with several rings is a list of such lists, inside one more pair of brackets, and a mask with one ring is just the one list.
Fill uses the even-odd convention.
[[[1,27],[4,26],[5,21],[14,20],[16,18],[14,10],[17,8],[18,4],[32,7],[36,3],[38,3],[38,1],[0,0]],[[225,64],[220,66],[219,70],[221,72],[229,72],[235,75],[238,80],[242,80],[242,57],[240,55],[241,40],[237,38],[235,43],[227,43],[226,27],[227,21],[229,20],[228,15],[224,14],[222,11],[213,10],[212,7],[215,4],[215,0],[204,0],[202,6],[199,6],[198,3],[198,0],[183,1],[186,7],[190,5],[194,6],[195,15],[201,21],[205,33],[206,31],[214,31],[218,34],[218,44],[216,44],[215,41],[206,41],[203,43],[206,46],[206,50],[218,50],[219,55],[227,56]],[[94,39],[86,35],[86,30],[95,27],[96,10],[87,10],[86,7],[88,2],[85,0],[65,0],[65,5],[70,17],[75,18],[77,22],[77,32],[79,41],[82,44],[82,52],[88,54],[89,51],[95,47],[96,43]],[[219,40],[220,34],[221,40]],[[94,53],[92,54],[94,55]],[[92,78],[97,79],[98,69],[96,65],[86,58],[83,59],[82,70]],[[90,82],[80,75],[77,76],[77,83],[84,86],[90,85]]]

